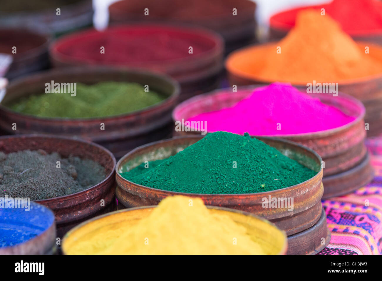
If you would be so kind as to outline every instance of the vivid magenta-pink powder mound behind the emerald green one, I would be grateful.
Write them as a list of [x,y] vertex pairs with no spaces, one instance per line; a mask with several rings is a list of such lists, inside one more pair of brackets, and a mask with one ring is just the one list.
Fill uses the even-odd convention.
[[[288,84],[274,83],[257,88],[233,107],[199,114],[188,121],[207,121],[208,132],[289,135],[337,128],[354,119]],[[277,130],[277,123],[281,130]]]

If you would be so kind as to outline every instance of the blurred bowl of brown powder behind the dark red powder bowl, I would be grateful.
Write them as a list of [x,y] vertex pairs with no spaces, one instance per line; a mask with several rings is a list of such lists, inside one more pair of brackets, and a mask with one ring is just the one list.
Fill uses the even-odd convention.
[[[212,5],[201,5],[202,2],[179,2],[165,0],[158,3],[151,0],[122,0],[109,6],[109,22],[120,23],[187,23],[218,32],[225,40],[226,54],[249,44],[255,39],[256,3],[249,0],[220,0],[219,5],[225,7],[224,12],[213,9]],[[145,16],[142,11],[148,8],[150,16]],[[237,9],[233,16],[232,9]],[[187,9],[187,10],[186,10]],[[199,13],[203,10],[203,13]],[[187,11],[186,14],[184,11]],[[194,13],[192,13],[194,11]],[[193,15],[193,16],[191,16]]]

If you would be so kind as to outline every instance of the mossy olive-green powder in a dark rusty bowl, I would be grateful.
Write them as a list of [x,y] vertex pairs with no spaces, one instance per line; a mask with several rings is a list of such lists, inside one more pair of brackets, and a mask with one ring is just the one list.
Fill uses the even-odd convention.
[[126,114],[163,101],[167,96],[144,91],[138,83],[77,83],[76,96],[70,93],[43,93],[23,97],[6,107],[24,114],[56,118],[95,118]]

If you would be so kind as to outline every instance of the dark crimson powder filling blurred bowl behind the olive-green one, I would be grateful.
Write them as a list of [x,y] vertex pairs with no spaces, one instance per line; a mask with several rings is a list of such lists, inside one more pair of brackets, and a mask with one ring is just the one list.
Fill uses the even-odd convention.
[[50,52],[63,63],[161,68],[209,58],[221,52],[222,44],[218,35],[204,29],[131,25],[73,33],[55,42]]

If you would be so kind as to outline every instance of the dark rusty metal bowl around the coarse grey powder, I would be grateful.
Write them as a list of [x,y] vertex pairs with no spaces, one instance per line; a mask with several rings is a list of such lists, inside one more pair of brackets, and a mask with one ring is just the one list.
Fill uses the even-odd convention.
[[[91,159],[105,167],[106,178],[97,185],[66,196],[36,200],[55,214],[57,235],[62,237],[69,229],[98,214],[115,209],[115,158],[100,145],[90,141],[50,135],[1,136],[0,151],[11,153],[20,150],[44,149],[58,152],[66,158],[70,154]],[[104,206],[101,206],[101,200]]]

